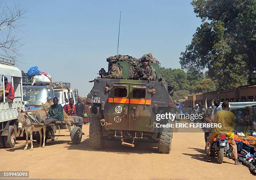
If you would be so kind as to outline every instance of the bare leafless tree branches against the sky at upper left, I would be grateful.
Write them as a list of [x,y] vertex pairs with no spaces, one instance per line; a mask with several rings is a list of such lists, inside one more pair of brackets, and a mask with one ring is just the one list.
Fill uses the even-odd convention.
[[[3,3],[2,3],[3,4]],[[20,20],[23,18],[26,10],[20,5],[14,5],[11,9],[7,5],[1,6],[0,13],[0,57],[6,57],[14,60],[19,56],[18,50],[23,45],[20,39],[13,35],[13,32],[20,30]]]

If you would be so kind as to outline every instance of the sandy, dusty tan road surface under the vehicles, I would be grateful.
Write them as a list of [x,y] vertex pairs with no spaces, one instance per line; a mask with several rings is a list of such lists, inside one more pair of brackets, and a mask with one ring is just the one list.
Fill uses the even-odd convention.
[[[203,133],[174,133],[169,155],[157,153],[157,143],[137,140],[135,148],[122,146],[120,140],[108,140],[104,150],[89,147],[89,125],[84,125],[82,143],[72,145],[69,137],[48,142],[46,147],[26,150],[24,140],[15,148],[0,149],[0,171],[29,171],[29,178],[38,179],[139,179],[139,180],[237,180],[254,179],[248,168],[205,162]],[[61,133],[68,134],[67,130]],[[28,146],[30,148],[30,146]],[[4,163],[3,163],[4,162]],[[254,177],[254,178],[253,178]],[[16,178],[18,179],[18,178]]]

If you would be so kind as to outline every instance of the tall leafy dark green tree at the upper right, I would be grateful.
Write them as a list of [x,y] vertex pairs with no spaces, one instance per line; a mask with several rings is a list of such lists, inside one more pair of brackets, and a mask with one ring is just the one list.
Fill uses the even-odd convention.
[[256,84],[256,0],[193,0],[202,19],[181,52],[183,69],[208,68],[218,89]]

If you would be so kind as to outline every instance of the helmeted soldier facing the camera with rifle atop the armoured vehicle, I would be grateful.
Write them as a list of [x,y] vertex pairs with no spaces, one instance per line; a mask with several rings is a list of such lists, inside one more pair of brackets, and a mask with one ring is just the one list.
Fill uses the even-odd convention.
[[143,56],[141,58],[141,63],[143,65],[137,68],[134,78],[139,80],[156,80],[156,70],[153,66],[148,64],[149,58]]

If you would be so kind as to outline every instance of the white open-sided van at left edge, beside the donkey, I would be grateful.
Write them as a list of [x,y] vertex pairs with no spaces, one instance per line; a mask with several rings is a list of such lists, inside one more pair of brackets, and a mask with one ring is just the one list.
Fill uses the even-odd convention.
[[[24,110],[22,75],[18,67],[13,67],[15,61],[0,59],[0,96],[3,95],[3,102],[0,102],[0,148],[13,148],[16,141],[18,108]],[[14,90],[13,102],[5,102],[4,77],[8,78]]]

